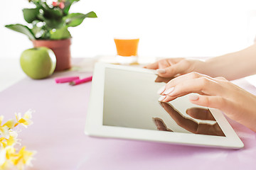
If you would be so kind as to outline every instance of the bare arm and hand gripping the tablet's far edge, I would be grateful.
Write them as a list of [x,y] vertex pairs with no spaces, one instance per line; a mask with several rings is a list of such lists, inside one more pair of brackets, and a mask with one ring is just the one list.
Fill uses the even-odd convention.
[[206,61],[170,58],[159,60],[145,68],[157,69],[160,77],[176,77],[189,72],[199,72],[210,77],[240,79],[256,74],[256,44]]

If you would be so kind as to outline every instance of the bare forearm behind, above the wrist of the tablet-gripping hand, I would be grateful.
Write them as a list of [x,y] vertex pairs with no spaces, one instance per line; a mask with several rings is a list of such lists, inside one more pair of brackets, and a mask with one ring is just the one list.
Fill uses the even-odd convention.
[[256,44],[238,52],[210,58],[196,72],[228,80],[256,74]]

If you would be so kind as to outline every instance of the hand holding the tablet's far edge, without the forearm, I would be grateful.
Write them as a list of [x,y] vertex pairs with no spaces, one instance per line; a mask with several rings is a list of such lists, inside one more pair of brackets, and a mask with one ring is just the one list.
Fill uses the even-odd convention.
[[178,77],[189,72],[198,72],[203,68],[204,62],[184,58],[163,59],[146,65],[146,69],[156,69],[160,77]]

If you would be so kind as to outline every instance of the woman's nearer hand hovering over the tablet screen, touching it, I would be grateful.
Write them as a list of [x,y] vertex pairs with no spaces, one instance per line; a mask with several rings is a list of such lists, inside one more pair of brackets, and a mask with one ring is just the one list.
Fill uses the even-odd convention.
[[[191,94],[196,93],[196,94]],[[159,101],[172,101],[191,94],[191,103],[218,108],[229,118],[256,132],[256,96],[232,84],[223,77],[208,77],[191,72],[171,79],[159,90]]]

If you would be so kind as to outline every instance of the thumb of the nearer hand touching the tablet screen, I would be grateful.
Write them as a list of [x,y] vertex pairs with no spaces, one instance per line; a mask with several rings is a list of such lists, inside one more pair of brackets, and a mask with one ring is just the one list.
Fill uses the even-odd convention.
[[228,107],[229,101],[221,96],[205,96],[205,95],[198,95],[198,94],[191,94],[188,96],[191,103],[205,106],[208,108],[218,108],[222,111],[225,110],[225,107]]

